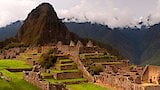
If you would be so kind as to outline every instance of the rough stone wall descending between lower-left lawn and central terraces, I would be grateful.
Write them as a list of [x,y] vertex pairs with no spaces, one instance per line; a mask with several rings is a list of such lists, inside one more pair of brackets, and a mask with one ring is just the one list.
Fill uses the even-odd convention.
[[23,71],[23,79],[42,90],[67,90],[64,84],[45,82],[41,76],[41,66],[36,64],[32,71]]

